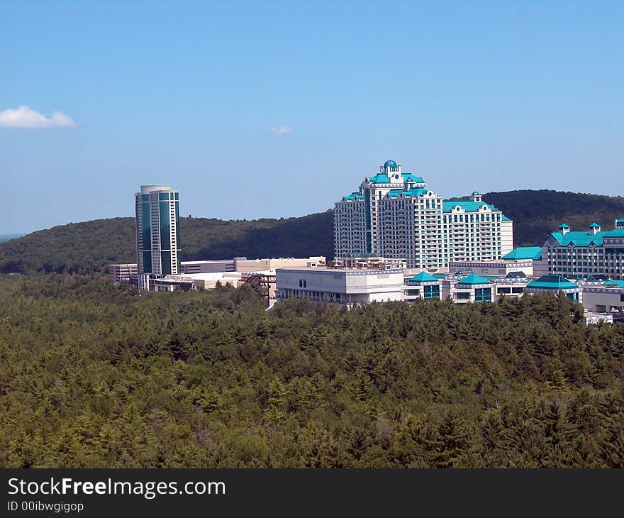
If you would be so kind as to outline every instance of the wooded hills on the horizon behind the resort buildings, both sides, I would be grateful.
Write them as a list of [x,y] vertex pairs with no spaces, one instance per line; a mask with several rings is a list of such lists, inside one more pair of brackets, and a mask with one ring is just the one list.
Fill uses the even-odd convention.
[[[584,230],[596,221],[613,228],[624,217],[624,198],[555,191],[484,194],[513,219],[516,246],[541,246],[562,221]],[[301,218],[221,221],[180,218],[182,260],[245,256],[333,258],[333,211]],[[0,272],[104,272],[110,263],[135,263],[134,218],[55,226],[0,243]]]

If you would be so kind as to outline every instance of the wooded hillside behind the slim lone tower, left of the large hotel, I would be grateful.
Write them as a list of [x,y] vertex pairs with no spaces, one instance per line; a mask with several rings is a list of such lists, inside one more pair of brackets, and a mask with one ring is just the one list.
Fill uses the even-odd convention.
[[[222,221],[180,218],[182,260],[333,256],[333,212],[301,218]],[[104,271],[134,263],[134,218],[55,226],[0,243],[0,272]]]

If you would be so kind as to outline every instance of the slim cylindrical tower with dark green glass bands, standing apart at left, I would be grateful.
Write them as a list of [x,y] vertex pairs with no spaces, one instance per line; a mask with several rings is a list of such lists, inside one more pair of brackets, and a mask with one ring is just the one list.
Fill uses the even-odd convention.
[[138,285],[180,271],[179,192],[169,185],[141,185],[135,194]]

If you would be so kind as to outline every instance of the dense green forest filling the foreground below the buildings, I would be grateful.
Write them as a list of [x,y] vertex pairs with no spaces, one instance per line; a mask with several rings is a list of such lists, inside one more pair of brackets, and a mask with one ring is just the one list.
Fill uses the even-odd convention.
[[3,468],[624,467],[624,325],[0,275]]

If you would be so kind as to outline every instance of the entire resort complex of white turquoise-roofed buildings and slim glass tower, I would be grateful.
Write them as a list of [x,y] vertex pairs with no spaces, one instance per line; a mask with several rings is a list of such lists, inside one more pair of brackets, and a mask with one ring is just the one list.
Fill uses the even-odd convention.
[[473,192],[445,200],[387,160],[335,205],[335,258],[181,261],[179,192],[135,194],[137,263],[109,265],[114,282],[143,290],[262,288],[267,307],[309,299],[348,308],[418,299],[497,302],[552,292],[579,302],[588,322],[624,319],[624,219],[612,230],[561,224],[544,245],[513,248],[513,222]]

